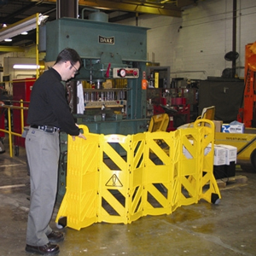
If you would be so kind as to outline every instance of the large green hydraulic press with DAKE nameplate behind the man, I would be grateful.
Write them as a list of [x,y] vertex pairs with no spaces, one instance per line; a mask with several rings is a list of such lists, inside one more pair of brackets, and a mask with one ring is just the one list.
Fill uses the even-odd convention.
[[[45,62],[55,61],[65,48],[76,49],[83,66],[79,81],[96,84],[84,88],[84,113],[73,113],[78,124],[90,132],[135,134],[147,130],[146,79],[147,28],[95,20],[61,18],[46,23]],[[102,87],[107,79],[125,80],[122,88]],[[112,97],[102,98],[110,94]],[[94,98],[92,100],[92,96]],[[86,96],[91,96],[90,100]],[[116,111],[120,110],[120,111]],[[61,157],[58,195],[65,194],[67,134],[61,132]]]

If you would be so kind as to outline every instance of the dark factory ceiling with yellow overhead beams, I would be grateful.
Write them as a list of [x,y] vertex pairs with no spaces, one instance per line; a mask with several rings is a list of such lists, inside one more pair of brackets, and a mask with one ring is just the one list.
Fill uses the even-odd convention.
[[[10,26],[37,13],[48,15],[49,21],[55,20],[58,13],[56,7],[60,3],[64,4],[63,1],[68,0],[0,0],[0,28],[3,29],[5,24]],[[108,22],[118,22],[145,14],[181,17],[184,8],[197,2],[198,0],[79,0],[78,11],[80,17],[83,12],[84,19],[87,19],[90,14],[88,9],[100,9],[109,15]],[[9,51],[6,50],[9,46],[25,47],[35,42],[35,30],[32,30],[26,36],[15,36],[11,42],[0,42],[0,51]]]

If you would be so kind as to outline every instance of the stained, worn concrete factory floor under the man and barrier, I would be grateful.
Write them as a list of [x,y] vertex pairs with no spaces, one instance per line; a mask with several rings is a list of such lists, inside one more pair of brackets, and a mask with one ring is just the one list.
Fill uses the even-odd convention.
[[[0,154],[0,175],[0,255],[30,255],[25,252],[29,177],[24,148],[13,158],[9,150]],[[247,177],[247,183],[221,189],[218,205],[200,201],[171,215],[147,216],[131,224],[65,228],[59,255],[256,255],[256,173],[247,168],[236,175]],[[57,211],[55,207],[54,229]]]

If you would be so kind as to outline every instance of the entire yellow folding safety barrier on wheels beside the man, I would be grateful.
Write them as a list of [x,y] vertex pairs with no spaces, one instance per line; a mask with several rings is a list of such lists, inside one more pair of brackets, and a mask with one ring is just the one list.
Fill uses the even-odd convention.
[[[207,123],[210,127],[201,124]],[[75,230],[96,222],[129,224],[220,199],[213,176],[214,124],[135,135],[68,137],[67,189],[56,222]],[[122,154],[120,154],[122,152]]]

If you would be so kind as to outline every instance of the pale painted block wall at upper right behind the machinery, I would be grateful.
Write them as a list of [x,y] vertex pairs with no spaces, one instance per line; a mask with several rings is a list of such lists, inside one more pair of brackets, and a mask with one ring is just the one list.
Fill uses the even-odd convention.
[[[244,76],[245,45],[256,41],[256,1],[237,0],[236,73]],[[224,55],[232,50],[233,0],[205,0],[183,11],[182,18],[140,15],[148,30],[148,61],[171,67],[171,78],[220,77],[232,67]],[[136,20],[122,24],[136,26]]]

